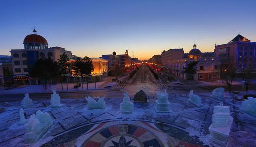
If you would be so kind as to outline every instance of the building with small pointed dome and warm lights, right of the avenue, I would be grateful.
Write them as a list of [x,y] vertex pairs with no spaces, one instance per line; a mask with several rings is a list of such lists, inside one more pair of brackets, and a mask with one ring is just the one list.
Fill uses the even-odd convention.
[[[193,49],[187,54],[188,57],[172,59],[168,63],[170,73],[175,77],[187,81],[212,81],[220,78],[220,62],[218,57],[211,53],[202,53],[194,44]],[[185,73],[185,67],[190,62],[197,61],[196,74]]]

